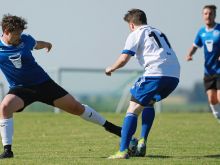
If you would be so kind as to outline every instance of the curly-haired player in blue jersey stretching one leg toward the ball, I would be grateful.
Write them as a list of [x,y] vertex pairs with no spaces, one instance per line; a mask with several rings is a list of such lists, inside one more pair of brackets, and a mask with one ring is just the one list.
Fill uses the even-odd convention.
[[0,104],[0,134],[4,146],[0,159],[13,157],[13,113],[22,111],[35,101],[78,115],[120,136],[121,127],[108,122],[91,107],[79,103],[38,65],[32,51],[46,49],[49,52],[52,44],[24,34],[26,25],[25,19],[10,14],[4,15],[1,22],[3,35],[0,39],[0,68],[10,89]]

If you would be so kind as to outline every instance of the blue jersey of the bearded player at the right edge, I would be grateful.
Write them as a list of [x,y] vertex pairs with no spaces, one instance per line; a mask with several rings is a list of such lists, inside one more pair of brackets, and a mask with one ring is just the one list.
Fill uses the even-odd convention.
[[204,46],[205,75],[220,75],[220,24],[214,28],[202,27],[194,41],[196,47]]

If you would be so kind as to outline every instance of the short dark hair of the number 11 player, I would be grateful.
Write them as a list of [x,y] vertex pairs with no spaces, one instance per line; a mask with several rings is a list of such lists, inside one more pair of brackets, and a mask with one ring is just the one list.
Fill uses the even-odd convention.
[[128,23],[134,23],[135,25],[144,25],[147,24],[147,17],[144,11],[140,9],[131,9],[125,16],[124,20]]

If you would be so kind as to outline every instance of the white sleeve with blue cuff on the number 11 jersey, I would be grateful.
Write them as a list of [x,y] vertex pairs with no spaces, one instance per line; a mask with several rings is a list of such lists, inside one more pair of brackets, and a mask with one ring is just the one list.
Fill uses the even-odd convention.
[[122,54],[128,54],[134,56],[136,54],[137,47],[138,47],[137,37],[135,33],[130,33],[125,42],[125,47],[122,51]]

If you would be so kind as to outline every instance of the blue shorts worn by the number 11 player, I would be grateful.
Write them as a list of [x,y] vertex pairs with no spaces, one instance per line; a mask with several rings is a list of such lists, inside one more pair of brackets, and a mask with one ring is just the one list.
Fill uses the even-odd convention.
[[177,87],[179,79],[175,77],[140,77],[131,88],[132,101],[148,106],[150,101],[166,98]]

